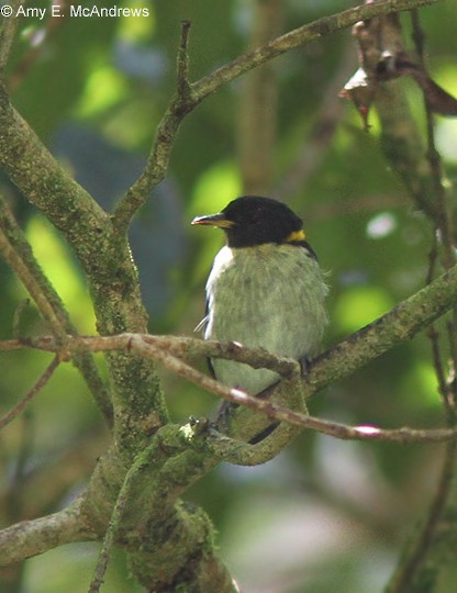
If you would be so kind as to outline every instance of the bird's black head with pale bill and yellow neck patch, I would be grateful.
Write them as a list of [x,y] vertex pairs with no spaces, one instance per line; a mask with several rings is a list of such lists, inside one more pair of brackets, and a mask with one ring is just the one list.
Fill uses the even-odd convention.
[[237,198],[221,213],[198,216],[192,224],[223,228],[230,247],[304,242],[302,220],[282,202],[259,195]]

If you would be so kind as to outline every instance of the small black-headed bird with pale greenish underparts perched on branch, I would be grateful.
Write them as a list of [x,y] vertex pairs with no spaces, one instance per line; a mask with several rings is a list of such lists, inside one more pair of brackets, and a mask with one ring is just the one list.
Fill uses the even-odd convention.
[[[207,282],[204,339],[238,342],[298,360],[316,354],[327,287],[301,219],[277,200],[244,195],[192,224],[216,226],[226,235]],[[211,366],[219,381],[252,394],[279,380],[274,371],[232,360],[212,359]]]

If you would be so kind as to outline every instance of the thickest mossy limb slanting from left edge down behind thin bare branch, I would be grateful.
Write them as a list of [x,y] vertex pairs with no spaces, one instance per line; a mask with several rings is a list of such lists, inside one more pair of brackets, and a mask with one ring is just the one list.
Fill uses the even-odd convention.
[[[52,157],[1,87],[0,165],[75,249],[87,275],[100,333],[145,332],[147,315],[126,236]],[[131,462],[137,448],[144,446],[138,439],[144,436],[141,426],[145,418],[155,415],[160,425],[168,414],[154,366],[122,353],[110,355],[109,365],[116,443]],[[142,389],[137,389],[138,380]]]

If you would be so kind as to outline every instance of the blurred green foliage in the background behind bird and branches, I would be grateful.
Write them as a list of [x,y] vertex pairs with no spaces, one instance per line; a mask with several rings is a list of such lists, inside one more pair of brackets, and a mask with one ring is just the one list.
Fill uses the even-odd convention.
[[[124,3],[143,5],[142,0]],[[74,18],[52,26],[49,21],[21,22],[10,64],[16,107],[107,209],[141,171],[174,91],[180,21],[192,21],[192,78],[245,51],[253,25],[252,3],[243,0],[159,0],[147,5],[148,19]],[[285,26],[299,26],[344,8],[347,2],[338,0],[290,0],[283,3]],[[438,3],[421,10],[421,19],[432,74],[456,92],[454,8]],[[403,21],[409,31],[408,15]],[[331,324],[325,345],[419,290],[433,243],[428,222],[409,202],[382,158],[376,114],[367,134],[352,105],[342,109],[336,98],[335,81],[344,83],[356,67],[353,44],[345,31],[276,61],[275,187],[296,171],[291,191],[282,198],[304,217],[309,240],[328,270]],[[221,89],[183,122],[168,177],[132,227],[152,333],[191,334],[203,315],[205,276],[223,237],[218,231],[191,228],[189,222],[197,214],[220,210],[242,192],[236,152],[242,86],[243,80],[237,80]],[[422,98],[411,83],[405,82],[405,88],[422,119]],[[324,100],[335,113],[336,125],[320,143],[313,131],[323,121]],[[437,141],[453,182],[455,122],[437,120]],[[298,166],[298,155],[306,146],[309,158]],[[0,184],[75,324],[83,334],[94,332],[90,298],[73,254],[5,179]],[[25,293],[1,261],[0,275],[0,336],[8,338]],[[30,305],[21,333],[45,331]],[[48,360],[30,351],[1,355],[2,412],[32,387]],[[214,410],[215,398],[161,374],[178,421]],[[402,345],[315,396],[311,411],[384,427],[443,423],[426,337]],[[103,432],[82,380],[69,365],[59,368],[37,395],[27,418],[15,421],[1,435],[3,517],[14,518],[4,495],[9,488],[22,483],[26,489],[47,463],[60,457],[65,462],[64,451],[78,449],[86,440],[90,444]],[[32,434],[26,446],[25,422]],[[25,461],[19,461],[23,450]],[[55,508],[78,491],[98,452],[99,444],[93,458],[81,463],[80,481],[68,484],[65,496],[56,495]],[[77,456],[71,462],[78,468]],[[348,444],[303,434],[265,467],[221,467],[189,497],[214,519],[221,553],[245,591],[375,593],[389,578],[405,534],[424,508],[439,463],[439,447]],[[36,558],[25,568],[21,591],[86,591],[96,553],[93,544],[75,545]],[[136,591],[120,557],[110,570],[103,591]]]

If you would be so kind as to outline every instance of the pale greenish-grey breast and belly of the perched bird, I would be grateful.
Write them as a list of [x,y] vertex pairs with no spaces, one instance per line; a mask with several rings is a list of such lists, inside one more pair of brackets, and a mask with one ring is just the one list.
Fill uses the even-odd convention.
[[[296,359],[314,355],[326,324],[327,287],[302,247],[264,245],[218,254],[207,283],[204,337],[235,340]],[[212,360],[216,378],[250,393],[278,380],[265,369]]]

